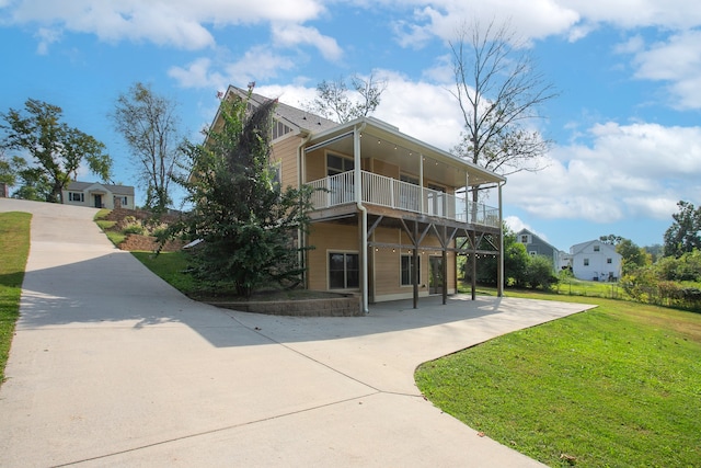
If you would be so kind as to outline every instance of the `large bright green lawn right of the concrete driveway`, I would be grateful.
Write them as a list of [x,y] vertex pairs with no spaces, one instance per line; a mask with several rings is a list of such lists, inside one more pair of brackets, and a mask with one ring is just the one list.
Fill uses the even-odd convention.
[[701,315],[587,301],[598,307],[426,363],[416,383],[549,466],[700,466]]

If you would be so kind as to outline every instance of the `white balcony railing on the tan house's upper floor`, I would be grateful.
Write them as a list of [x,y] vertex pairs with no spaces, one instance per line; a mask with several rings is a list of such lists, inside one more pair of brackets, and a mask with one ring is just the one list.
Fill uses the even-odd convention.
[[[314,209],[355,203],[355,172],[348,171],[310,182]],[[407,182],[361,171],[363,203],[420,213],[472,225],[499,227],[497,208],[464,197],[422,189]]]

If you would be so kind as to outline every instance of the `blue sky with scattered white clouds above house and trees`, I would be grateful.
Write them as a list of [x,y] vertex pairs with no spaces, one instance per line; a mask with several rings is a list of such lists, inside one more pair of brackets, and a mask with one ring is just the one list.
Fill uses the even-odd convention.
[[0,112],[60,106],[136,185],[108,117],[136,82],[175,101],[197,141],[229,84],[300,106],[322,80],[374,76],[387,82],[374,116],[450,150],[450,44],[474,22],[508,24],[559,92],[533,124],[554,142],[543,169],[504,187],[510,229],[565,251],[610,233],[644,247],[663,243],[678,201],[701,205],[693,0],[0,0]]

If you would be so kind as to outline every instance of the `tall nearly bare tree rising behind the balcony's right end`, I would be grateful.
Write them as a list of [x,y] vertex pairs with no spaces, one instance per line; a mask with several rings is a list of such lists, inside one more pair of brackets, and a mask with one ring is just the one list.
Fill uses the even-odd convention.
[[[542,169],[551,141],[530,125],[558,95],[507,24],[463,25],[450,43],[464,130],[459,156],[502,175]],[[472,193],[476,202],[478,191]]]

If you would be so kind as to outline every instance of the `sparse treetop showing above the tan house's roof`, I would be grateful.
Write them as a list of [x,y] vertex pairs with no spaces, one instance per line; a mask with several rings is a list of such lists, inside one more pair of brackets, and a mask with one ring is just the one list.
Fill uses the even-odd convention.
[[350,78],[352,89],[346,80],[323,80],[317,84],[317,96],[311,103],[302,106],[314,114],[337,123],[346,123],[357,117],[366,117],[380,105],[380,96],[387,89],[387,81],[378,80],[372,75],[366,80],[360,77]]

